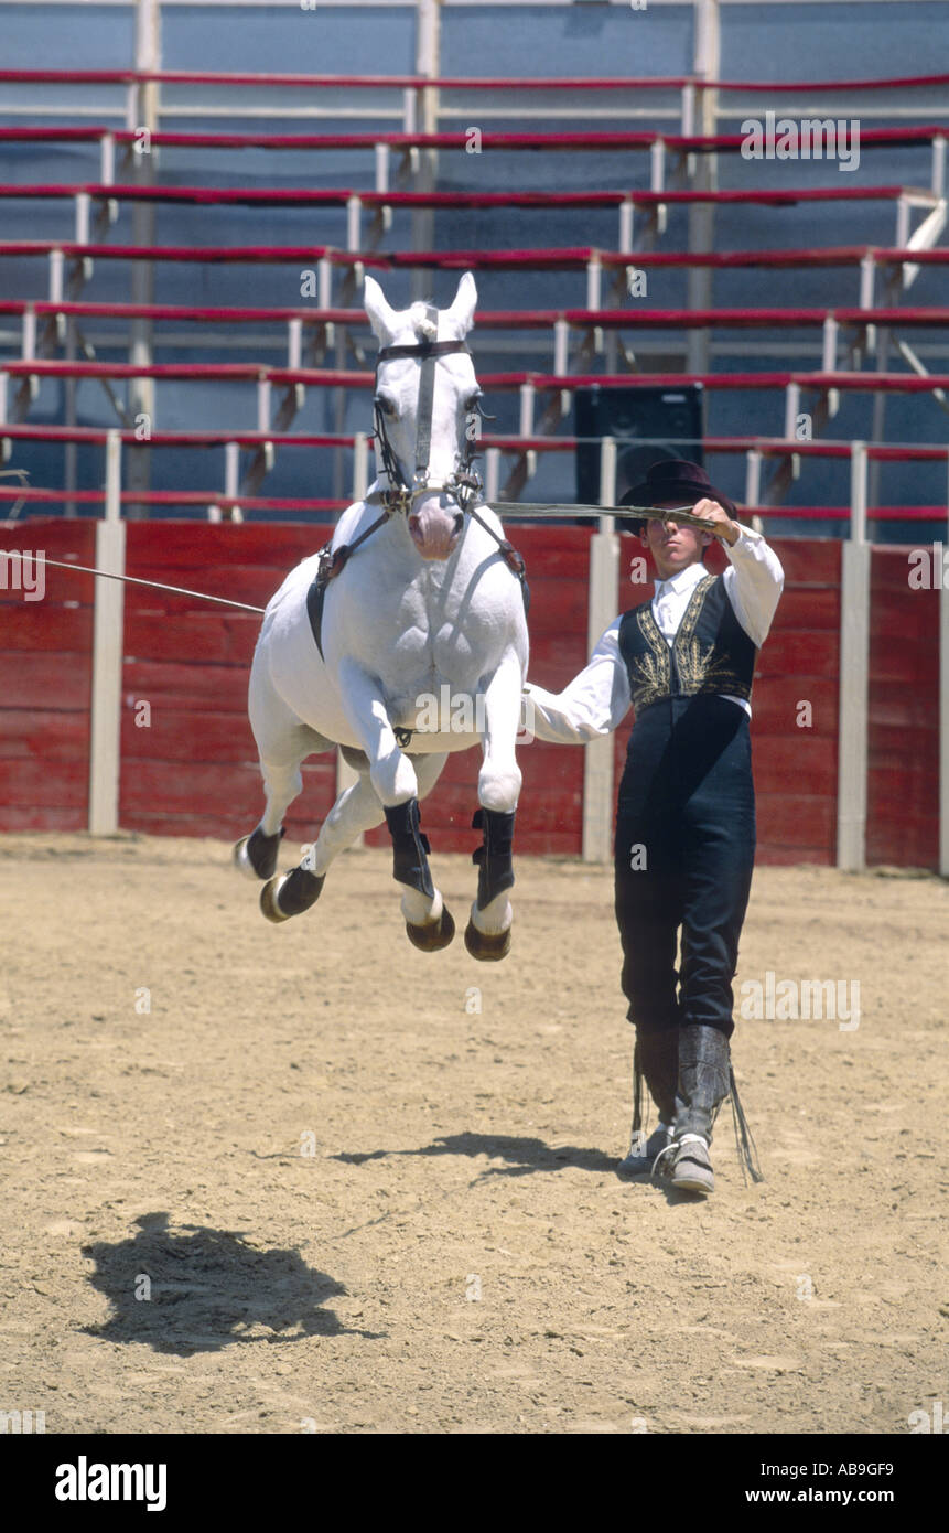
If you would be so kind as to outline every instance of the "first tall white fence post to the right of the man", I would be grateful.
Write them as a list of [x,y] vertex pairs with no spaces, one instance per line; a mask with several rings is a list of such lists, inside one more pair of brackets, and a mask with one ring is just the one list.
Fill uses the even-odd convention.
[[869,734],[869,575],[866,443],[851,443],[851,535],[840,546],[840,691],[837,716],[837,866],[866,866]]

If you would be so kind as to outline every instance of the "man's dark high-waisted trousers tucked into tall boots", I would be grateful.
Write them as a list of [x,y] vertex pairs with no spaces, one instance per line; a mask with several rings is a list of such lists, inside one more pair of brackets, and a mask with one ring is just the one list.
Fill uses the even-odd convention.
[[701,1023],[730,1038],[754,866],[744,708],[717,696],[670,698],[638,716],[619,783],[615,862],[629,1019],[647,1033]]

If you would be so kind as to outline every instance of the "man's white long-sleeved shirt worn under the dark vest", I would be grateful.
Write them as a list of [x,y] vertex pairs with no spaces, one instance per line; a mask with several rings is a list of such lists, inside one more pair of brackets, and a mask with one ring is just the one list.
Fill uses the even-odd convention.
[[[736,526],[739,537],[734,547],[724,543],[728,569],[722,579],[737,621],[756,648],[760,648],[768,638],[785,575],[780,560],[760,532],[737,523]],[[698,561],[679,570],[672,579],[656,581],[653,618],[670,648],[691,593],[707,573],[702,561]],[[563,691],[550,693],[532,682],[524,684],[523,725],[540,740],[583,745],[601,734],[610,734],[622,724],[632,696],[626,661],[619,653],[621,616],[610,622],[589,665]],[[722,696],[744,708],[748,717],[751,716],[751,704],[744,698],[733,698],[728,693]]]

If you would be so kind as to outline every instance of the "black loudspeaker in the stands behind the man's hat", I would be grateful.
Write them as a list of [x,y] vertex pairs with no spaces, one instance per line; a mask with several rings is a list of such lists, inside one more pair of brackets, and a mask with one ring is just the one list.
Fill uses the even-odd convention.
[[[702,464],[702,385],[682,388],[601,388],[593,383],[573,396],[573,435],[595,437],[576,448],[576,500],[599,504],[599,438],[616,438],[616,504],[645,478],[653,463],[688,458]],[[652,440],[649,440],[652,438]],[[704,466],[704,464],[702,464]]]

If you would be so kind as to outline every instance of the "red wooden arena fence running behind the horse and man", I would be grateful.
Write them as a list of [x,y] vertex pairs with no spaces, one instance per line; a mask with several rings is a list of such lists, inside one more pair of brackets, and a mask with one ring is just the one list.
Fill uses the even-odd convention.
[[[149,521],[127,524],[127,573],[264,606],[328,527]],[[517,527],[530,579],[530,678],[558,690],[587,658],[589,538],[581,527]],[[94,564],[94,524],[34,518],[0,549]],[[652,596],[629,581],[638,541],[621,540],[616,610]],[[774,540],[785,593],[754,685],[759,862],[836,857],[840,544]],[[874,549],[871,595],[868,862],[938,862],[938,592],[911,590],[908,550]],[[0,560],[0,829],[86,826],[94,579],[48,570],[26,601]],[[710,567],[724,555],[711,550]],[[247,724],[247,675],[259,619],[187,596],[126,586],[121,796],[126,829],[236,839],[262,808]],[[147,702],[150,722],[143,727]],[[809,714],[805,705],[809,705]],[[809,719],[809,722],[808,722]],[[629,722],[616,733],[616,782]],[[435,849],[477,843],[477,750],[449,757],[425,800]],[[584,753],[540,742],[520,751],[518,851],[580,855]],[[288,819],[311,840],[336,788],[331,756],[304,768]],[[376,831],[369,843],[383,842]]]

